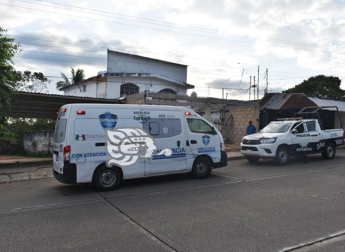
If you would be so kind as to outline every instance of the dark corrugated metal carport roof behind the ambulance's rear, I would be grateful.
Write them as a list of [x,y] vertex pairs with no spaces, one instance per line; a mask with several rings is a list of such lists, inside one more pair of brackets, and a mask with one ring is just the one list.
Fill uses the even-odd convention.
[[125,99],[105,99],[69,95],[18,92],[11,96],[10,108],[2,108],[0,115],[20,118],[56,119],[56,112],[61,106],[71,103],[124,103]]

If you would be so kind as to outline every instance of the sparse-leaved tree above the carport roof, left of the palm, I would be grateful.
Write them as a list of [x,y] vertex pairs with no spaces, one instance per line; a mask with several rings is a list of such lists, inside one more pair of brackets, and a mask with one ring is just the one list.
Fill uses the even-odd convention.
[[17,90],[32,93],[48,93],[47,84],[50,83],[42,73],[30,71],[18,72],[22,80],[17,83]]

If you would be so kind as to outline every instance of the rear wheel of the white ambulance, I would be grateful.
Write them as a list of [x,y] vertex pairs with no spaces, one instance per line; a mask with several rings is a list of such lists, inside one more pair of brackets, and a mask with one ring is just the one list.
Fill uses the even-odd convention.
[[117,168],[104,165],[93,174],[92,186],[99,191],[111,191],[119,186],[120,180],[121,175]]

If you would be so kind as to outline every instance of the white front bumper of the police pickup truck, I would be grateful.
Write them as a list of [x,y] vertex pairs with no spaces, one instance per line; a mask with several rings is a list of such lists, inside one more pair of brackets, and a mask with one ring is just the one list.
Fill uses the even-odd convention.
[[273,158],[276,155],[278,145],[273,144],[241,144],[241,154],[245,156]]

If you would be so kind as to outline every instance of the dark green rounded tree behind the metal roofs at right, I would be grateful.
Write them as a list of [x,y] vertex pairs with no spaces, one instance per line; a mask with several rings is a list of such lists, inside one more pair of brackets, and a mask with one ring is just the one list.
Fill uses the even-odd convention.
[[338,77],[317,75],[283,91],[283,93],[304,93],[311,96],[345,100],[345,90],[340,88],[341,82]]

